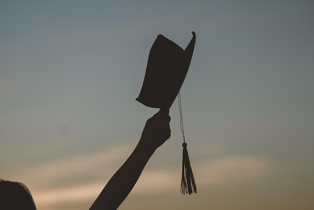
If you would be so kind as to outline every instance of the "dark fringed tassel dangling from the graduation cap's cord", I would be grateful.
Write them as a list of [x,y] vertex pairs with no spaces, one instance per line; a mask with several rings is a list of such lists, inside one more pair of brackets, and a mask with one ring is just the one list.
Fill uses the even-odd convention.
[[183,143],[183,161],[182,161],[182,179],[181,190],[182,194],[197,193],[194,175],[192,172],[189,154],[187,150],[187,143]]

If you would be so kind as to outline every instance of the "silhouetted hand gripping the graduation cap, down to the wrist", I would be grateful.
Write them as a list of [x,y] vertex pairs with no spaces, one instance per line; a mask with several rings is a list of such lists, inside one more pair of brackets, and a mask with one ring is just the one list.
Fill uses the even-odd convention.
[[160,110],[146,122],[139,144],[153,151],[164,144],[171,134],[169,110]]

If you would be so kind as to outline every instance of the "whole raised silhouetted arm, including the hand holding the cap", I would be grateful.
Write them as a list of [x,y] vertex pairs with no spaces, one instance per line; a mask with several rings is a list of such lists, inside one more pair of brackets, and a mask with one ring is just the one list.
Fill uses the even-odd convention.
[[160,111],[148,119],[132,154],[111,177],[90,210],[117,209],[135,185],[154,151],[170,138],[169,111]]

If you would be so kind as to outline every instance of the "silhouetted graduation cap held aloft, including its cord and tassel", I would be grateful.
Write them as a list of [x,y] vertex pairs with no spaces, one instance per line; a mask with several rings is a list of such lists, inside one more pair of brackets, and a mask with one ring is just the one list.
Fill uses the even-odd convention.
[[188,73],[194,51],[196,35],[195,32],[192,34],[193,38],[185,50],[163,35],[157,36],[149,52],[142,88],[136,98],[147,107],[169,110],[178,95],[184,138],[181,180],[183,194],[197,192],[185,143],[180,97],[180,88]]

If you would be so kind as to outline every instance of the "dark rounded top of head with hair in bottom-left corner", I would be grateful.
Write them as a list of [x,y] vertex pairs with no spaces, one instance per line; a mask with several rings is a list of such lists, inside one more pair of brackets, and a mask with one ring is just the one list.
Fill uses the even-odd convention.
[[24,184],[0,179],[0,209],[36,210],[36,205]]

